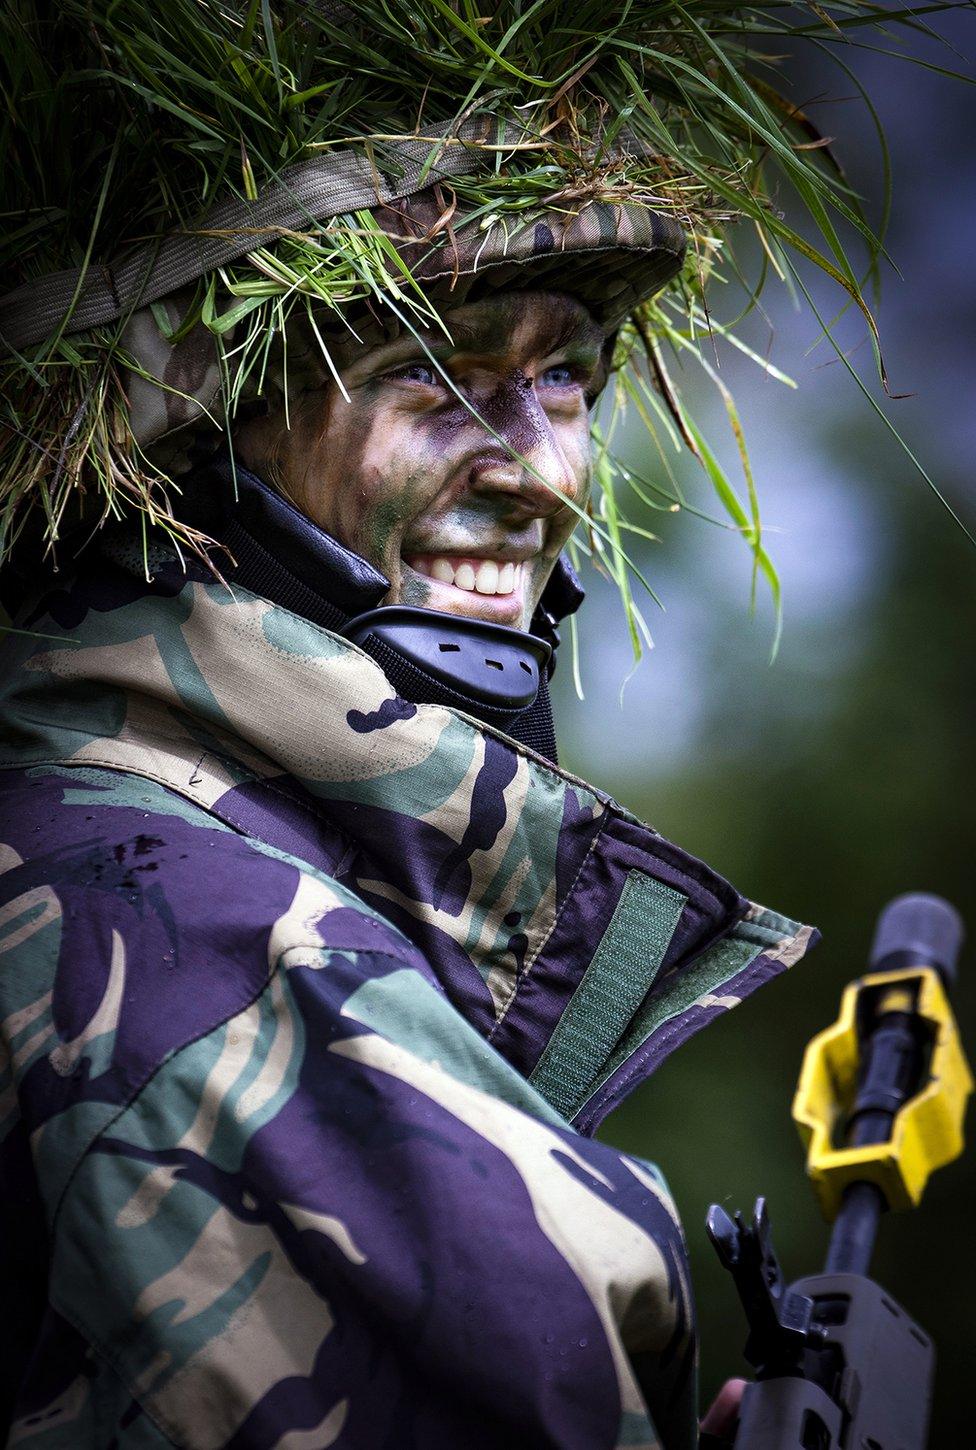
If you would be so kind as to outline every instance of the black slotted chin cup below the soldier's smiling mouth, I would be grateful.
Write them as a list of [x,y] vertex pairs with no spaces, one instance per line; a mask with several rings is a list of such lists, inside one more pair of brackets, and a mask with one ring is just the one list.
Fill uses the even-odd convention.
[[[406,699],[464,699],[470,703],[463,708],[499,725],[535,702],[553,654],[544,639],[521,629],[409,605],[370,609],[342,634],[387,670]],[[393,674],[392,660],[399,666]]]

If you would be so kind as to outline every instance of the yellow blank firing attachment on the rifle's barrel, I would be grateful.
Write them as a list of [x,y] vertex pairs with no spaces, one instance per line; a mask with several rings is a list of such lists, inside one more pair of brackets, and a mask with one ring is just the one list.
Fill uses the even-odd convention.
[[[857,1090],[861,1025],[883,1012],[914,1012],[927,1044],[919,1090],[895,1114],[886,1143],[837,1147]],[[877,972],[844,992],[832,1027],[809,1043],[793,1098],[793,1121],[806,1146],[806,1172],[828,1222],[848,1183],[876,1183],[889,1208],[914,1208],[935,1169],[963,1151],[966,1101],[973,1077],[956,1018],[931,967]]]

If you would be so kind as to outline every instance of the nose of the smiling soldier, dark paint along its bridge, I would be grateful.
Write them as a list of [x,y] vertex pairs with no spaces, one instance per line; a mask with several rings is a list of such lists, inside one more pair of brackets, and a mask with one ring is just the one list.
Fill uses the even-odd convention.
[[468,487],[474,493],[508,494],[515,510],[537,518],[558,513],[567,499],[576,500],[580,478],[531,378],[516,370],[474,406],[490,429],[487,447],[471,460]]

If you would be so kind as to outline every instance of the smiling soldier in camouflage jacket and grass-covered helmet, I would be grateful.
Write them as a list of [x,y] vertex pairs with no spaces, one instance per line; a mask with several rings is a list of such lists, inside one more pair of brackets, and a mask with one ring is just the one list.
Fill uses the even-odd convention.
[[[155,94],[189,94],[200,33],[241,23],[197,9],[180,59],[139,6],[61,7],[93,104],[131,83],[125,145],[146,36]],[[248,106],[270,55],[307,107],[315,64],[367,54],[352,7],[302,9],[233,32]],[[57,362],[83,399],[36,394],[61,444],[29,454],[71,567],[39,571],[28,525],[7,574],[10,1443],[696,1443],[673,1202],[592,1134],[815,934],[557,764],[590,410],[687,220],[647,138],[587,149],[571,94],[521,130],[512,96],[500,132],[497,97],[345,130],[264,190],[235,138],[242,200],[0,307],[20,386]],[[94,536],[65,468],[115,489]]]

